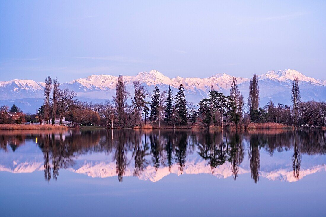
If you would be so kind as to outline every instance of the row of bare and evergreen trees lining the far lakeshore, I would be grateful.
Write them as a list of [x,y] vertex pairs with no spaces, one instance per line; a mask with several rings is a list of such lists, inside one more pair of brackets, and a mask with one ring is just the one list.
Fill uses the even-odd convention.
[[[38,109],[38,121],[54,124],[54,119],[66,120],[85,125],[106,125],[107,127],[141,126],[146,123],[170,125],[194,125],[204,128],[246,128],[249,123],[282,123],[288,125],[325,125],[326,102],[306,101],[300,96],[299,81],[292,81],[292,105],[275,105],[270,100],[259,107],[258,76],[250,79],[247,105],[239,91],[237,80],[233,77],[230,95],[218,92],[213,84],[207,97],[196,105],[186,100],[182,85],[173,94],[171,86],[160,91],[156,86],[150,93],[140,81],[133,81],[133,91],[126,90],[126,83],[120,75],[115,95],[104,103],[92,103],[77,100],[77,93],[59,88],[58,79],[45,79],[44,103]],[[131,103],[128,103],[131,102]],[[5,123],[6,106],[0,107],[0,123]],[[19,109],[19,108],[18,108]],[[31,115],[29,116],[32,119]]]

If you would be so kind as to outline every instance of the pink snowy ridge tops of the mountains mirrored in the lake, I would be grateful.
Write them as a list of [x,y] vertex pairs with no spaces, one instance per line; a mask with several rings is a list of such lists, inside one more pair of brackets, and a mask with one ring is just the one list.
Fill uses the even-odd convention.
[[[43,162],[31,161],[31,162],[20,162],[17,163],[13,161],[11,163],[12,166],[6,166],[0,164],[0,171],[6,171],[11,173],[32,173],[35,171],[40,171],[44,169]],[[116,166],[115,162],[112,161],[92,161],[92,160],[83,160],[79,162],[77,168],[68,168],[67,170],[79,174],[85,174],[89,177],[95,178],[107,178],[116,176]],[[303,177],[326,171],[326,165],[315,165],[309,168],[300,170],[300,179]],[[134,170],[133,165],[126,166],[124,177],[133,176]],[[241,174],[249,174],[250,170],[239,167],[238,175]],[[168,166],[156,168],[154,166],[147,166],[143,171],[140,172],[139,179],[140,180],[149,180],[152,182],[157,182],[168,176],[169,174],[181,175],[180,166],[174,164],[171,166],[169,171]],[[209,174],[213,175],[217,178],[228,178],[232,177],[231,165],[229,162],[214,168],[212,172],[212,168],[207,165],[207,161],[201,159],[188,159],[185,162],[185,167],[183,168],[182,174],[188,175],[196,175],[196,174]],[[270,181],[286,181],[286,182],[295,182],[297,181],[295,177],[293,177],[293,170],[291,167],[289,168],[280,168],[272,171],[260,171],[259,175],[261,177],[267,178]]]

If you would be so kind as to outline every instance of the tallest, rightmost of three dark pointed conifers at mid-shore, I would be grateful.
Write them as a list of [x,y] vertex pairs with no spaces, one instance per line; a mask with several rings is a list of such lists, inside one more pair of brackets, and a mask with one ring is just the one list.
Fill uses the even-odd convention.
[[185,90],[182,86],[182,83],[180,84],[180,87],[178,88],[179,92],[175,94],[174,98],[174,104],[175,104],[175,110],[177,115],[177,122],[179,124],[181,123],[187,123],[187,108],[186,108],[186,100],[185,100]]

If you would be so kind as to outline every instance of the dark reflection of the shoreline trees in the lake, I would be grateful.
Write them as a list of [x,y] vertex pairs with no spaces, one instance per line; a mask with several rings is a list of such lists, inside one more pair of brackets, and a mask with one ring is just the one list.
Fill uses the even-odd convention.
[[133,175],[136,177],[140,177],[149,166],[153,166],[157,173],[160,168],[167,167],[171,173],[174,164],[178,171],[173,172],[183,174],[187,156],[192,154],[204,159],[212,174],[221,165],[230,166],[236,180],[245,149],[248,150],[251,177],[255,183],[259,181],[261,149],[271,156],[274,152],[293,150],[293,177],[298,181],[302,154],[326,153],[326,133],[322,130],[0,132],[0,149],[15,151],[30,139],[35,140],[43,152],[46,181],[56,180],[60,169],[73,167],[79,155],[96,152],[113,156],[119,182],[122,182],[130,164],[134,165]]

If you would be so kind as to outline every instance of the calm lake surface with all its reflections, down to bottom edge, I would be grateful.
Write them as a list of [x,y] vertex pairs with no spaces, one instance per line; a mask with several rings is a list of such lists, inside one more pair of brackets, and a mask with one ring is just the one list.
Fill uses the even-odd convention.
[[1,216],[326,216],[326,131],[0,131]]

